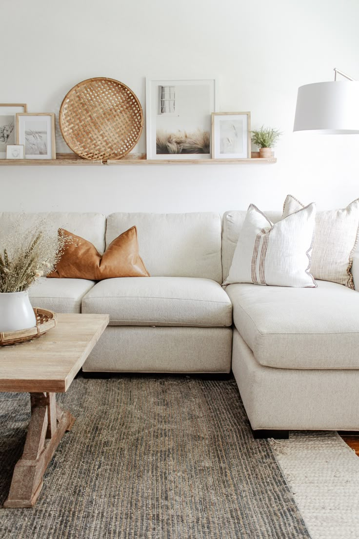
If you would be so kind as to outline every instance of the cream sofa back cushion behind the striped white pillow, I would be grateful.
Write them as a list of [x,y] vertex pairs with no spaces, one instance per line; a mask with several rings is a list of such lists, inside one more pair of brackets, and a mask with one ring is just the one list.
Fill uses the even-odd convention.
[[[277,223],[281,218],[279,211],[265,211],[265,215],[272,223]],[[226,211],[223,215],[222,228],[222,277],[223,281],[227,279],[229,269],[232,264],[235,248],[237,246],[238,237],[244,223],[247,211],[233,210]]]

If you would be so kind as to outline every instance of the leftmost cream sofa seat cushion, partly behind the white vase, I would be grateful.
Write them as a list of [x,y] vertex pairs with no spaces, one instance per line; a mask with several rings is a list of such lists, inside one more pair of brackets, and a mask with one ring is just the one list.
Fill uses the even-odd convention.
[[81,313],[82,298],[94,284],[87,279],[40,277],[29,289],[31,305],[55,313]]

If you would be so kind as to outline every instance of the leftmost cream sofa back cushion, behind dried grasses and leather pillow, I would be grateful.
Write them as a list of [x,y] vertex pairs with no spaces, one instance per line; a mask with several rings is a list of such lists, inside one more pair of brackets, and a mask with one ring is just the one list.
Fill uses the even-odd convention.
[[20,222],[22,229],[26,230],[39,218],[46,221],[48,230],[53,231],[56,236],[59,228],[66,229],[93,243],[100,254],[104,252],[106,218],[102,213],[0,212],[1,236],[6,236],[17,222]]

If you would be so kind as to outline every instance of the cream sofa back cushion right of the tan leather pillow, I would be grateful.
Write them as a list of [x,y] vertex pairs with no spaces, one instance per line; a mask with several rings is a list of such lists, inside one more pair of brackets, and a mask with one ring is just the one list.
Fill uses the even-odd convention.
[[218,213],[112,213],[106,245],[136,225],[139,254],[153,277],[202,277],[222,281]]

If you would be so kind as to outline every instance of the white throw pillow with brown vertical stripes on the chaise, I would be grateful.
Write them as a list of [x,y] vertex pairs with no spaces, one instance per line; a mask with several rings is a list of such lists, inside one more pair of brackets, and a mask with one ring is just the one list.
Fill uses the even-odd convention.
[[310,272],[314,227],[314,203],[275,224],[251,204],[223,285],[252,282],[315,288]]

